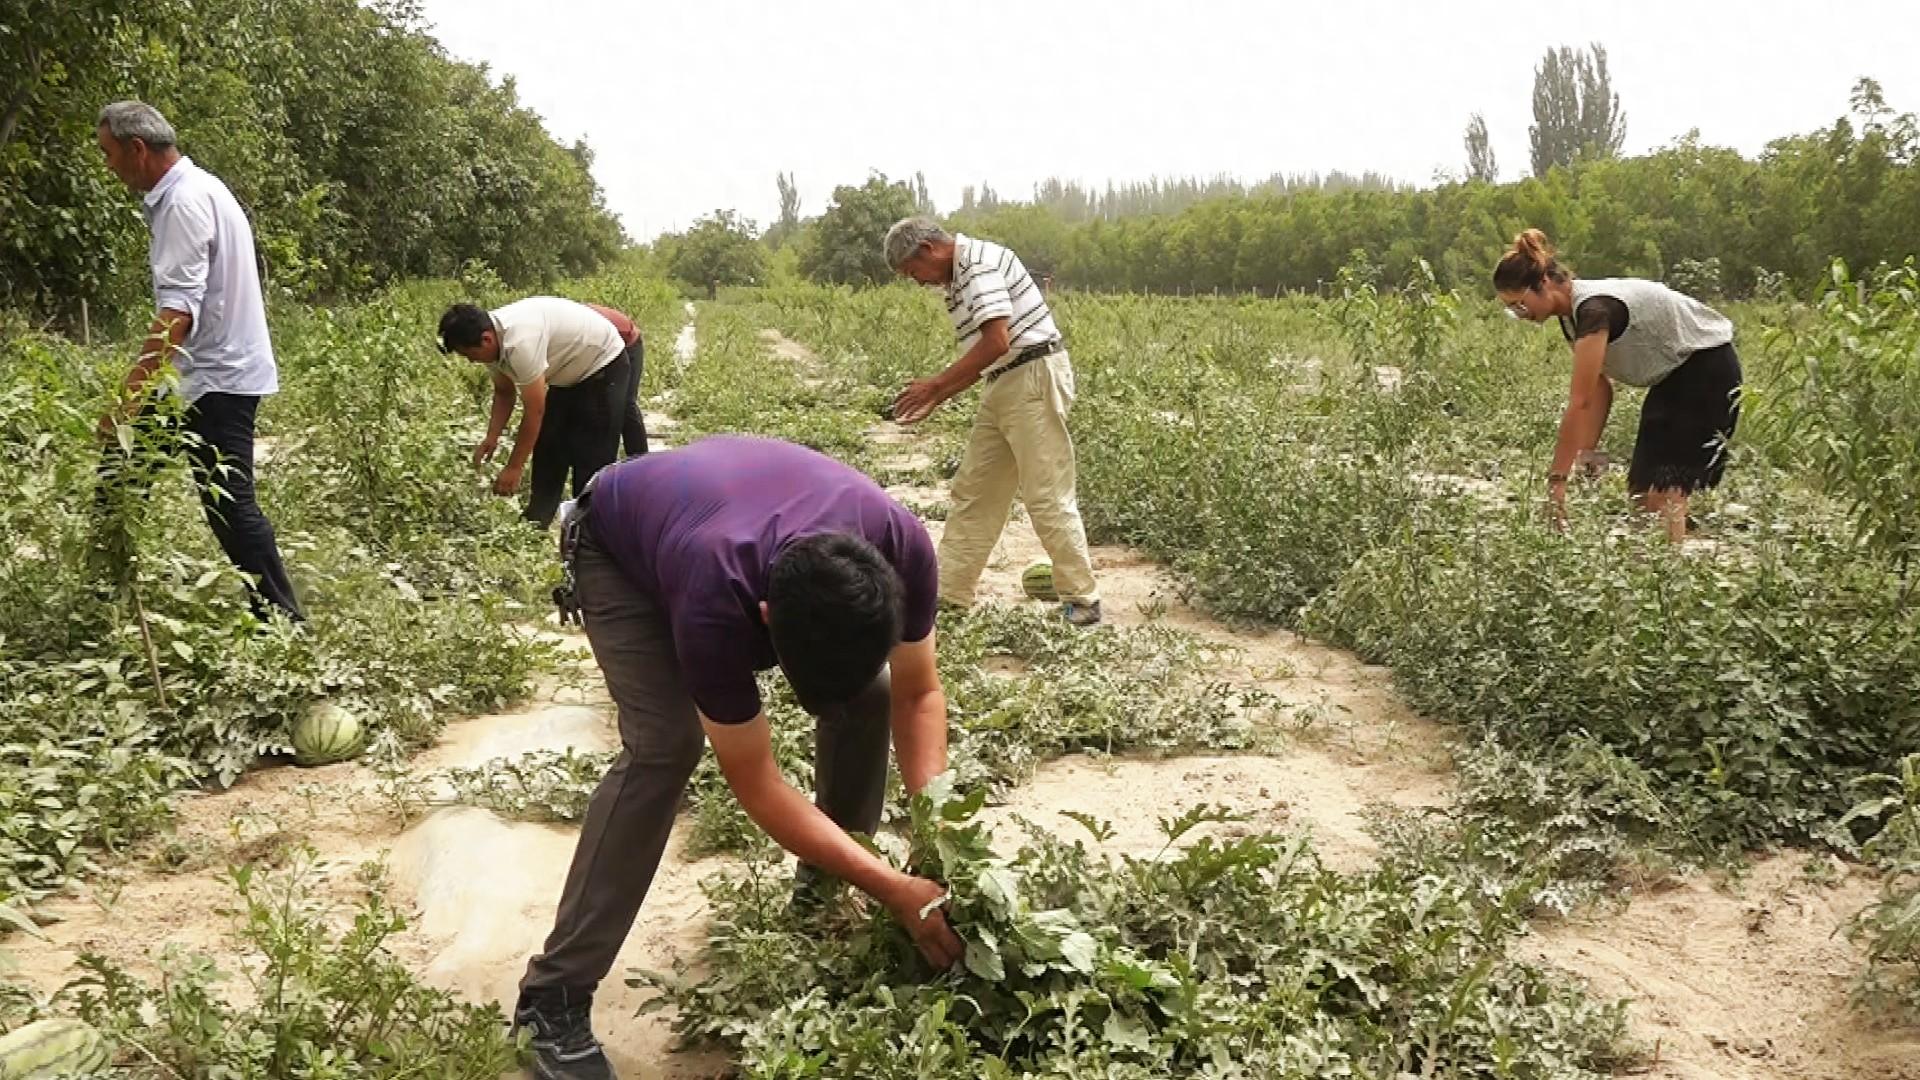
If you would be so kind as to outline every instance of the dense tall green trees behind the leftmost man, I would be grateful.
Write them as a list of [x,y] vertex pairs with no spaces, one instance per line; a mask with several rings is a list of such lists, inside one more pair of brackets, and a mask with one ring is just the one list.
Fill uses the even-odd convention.
[[253,219],[303,296],[480,259],[513,284],[626,238],[513,81],[451,60],[415,0],[15,0],[0,17],[0,306],[71,315],[144,292],[138,202],[102,167],[104,104],[140,98]]

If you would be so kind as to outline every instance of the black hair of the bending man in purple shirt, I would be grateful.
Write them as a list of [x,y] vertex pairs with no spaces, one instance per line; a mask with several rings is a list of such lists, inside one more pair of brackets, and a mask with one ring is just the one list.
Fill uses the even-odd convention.
[[900,575],[858,536],[822,532],[774,557],[768,632],[793,694],[812,711],[852,701],[900,644]]

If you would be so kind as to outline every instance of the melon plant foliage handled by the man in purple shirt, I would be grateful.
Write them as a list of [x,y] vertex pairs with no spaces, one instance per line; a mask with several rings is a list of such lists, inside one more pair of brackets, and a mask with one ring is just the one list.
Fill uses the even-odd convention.
[[756,863],[708,884],[705,976],[630,982],[758,1078],[1576,1078],[1617,1061],[1619,1007],[1505,957],[1517,892],[1421,865],[1340,874],[1204,805],[1162,821],[1158,853],[1029,830],[1002,855],[981,803],[950,774],[912,799],[906,865],[950,888],[954,970],[852,894],[795,915],[791,876]]

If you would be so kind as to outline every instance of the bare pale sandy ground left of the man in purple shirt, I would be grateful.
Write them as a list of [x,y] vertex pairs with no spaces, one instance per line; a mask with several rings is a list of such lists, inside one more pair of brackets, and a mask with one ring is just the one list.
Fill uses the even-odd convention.
[[[687,357],[693,348],[689,319],[676,354]],[[672,444],[674,429],[672,417],[647,415],[649,436],[664,436],[649,438],[655,450]],[[618,744],[586,636],[559,630],[553,619],[541,632],[578,650],[576,676],[543,686],[524,709],[449,724],[411,763],[415,778],[532,749],[601,751]],[[666,1020],[634,1019],[647,995],[624,982],[630,967],[670,970],[674,957],[693,955],[705,934],[699,880],[726,861],[687,861],[684,826],[674,830],[628,945],[595,997],[595,1030],[628,1078],[720,1076],[728,1065],[722,1055],[670,1053]],[[390,949],[434,986],[511,1009],[526,959],[553,924],[576,836],[574,826],[516,822],[470,807],[401,821],[365,763],[257,771],[227,792],[180,799],[173,832],[140,846],[79,896],[40,909],[48,940],[10,942],[10,976],[56,990],[75,976],[81,951],[144,974],[156,974],[165,947],[205,951],[230,965],[238,949],[221,915],[234,903],[227,867],[284,865],[296,846],[307,844],[319,855],[319,888],[342,903],[355,897],[363,863],[384,863],[392,899],[411,913]]]

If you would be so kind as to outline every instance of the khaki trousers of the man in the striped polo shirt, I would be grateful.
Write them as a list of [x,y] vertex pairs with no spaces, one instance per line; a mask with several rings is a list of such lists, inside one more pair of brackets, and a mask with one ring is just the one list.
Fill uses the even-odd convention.
[[1092,603],[1100,598],[1073,494],[1071,407],[1073,365],[1064,352],[1025,363],[981,390],[941,532],[941,600],[947,603],[973,603],[973,586],[1006,528],[1016,494],[1054,563],[1060,600]]

